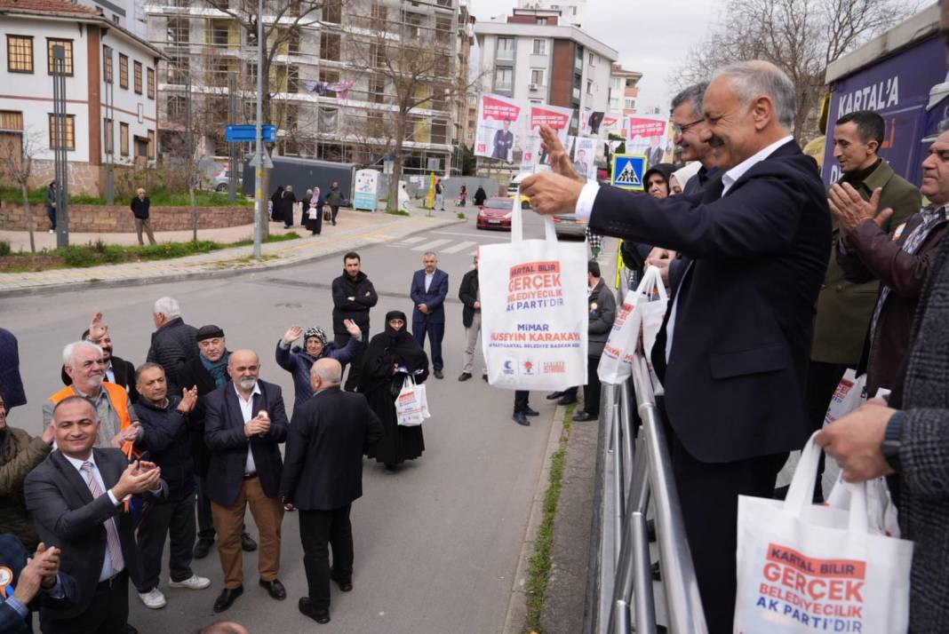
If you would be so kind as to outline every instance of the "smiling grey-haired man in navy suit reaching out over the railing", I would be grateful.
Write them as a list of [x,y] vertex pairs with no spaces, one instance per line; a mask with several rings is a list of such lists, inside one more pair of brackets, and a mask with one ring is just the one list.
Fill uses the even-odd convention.
[[598,233],[694,258],[652,359],[710,632],[732,630],[738,496],[770,497],[789,451],[809,436],[804,385],[830,222],[816,166],[791,136],[794,102],[793,83],[771,63],[716,72],[704,138],[725,172],[700,197],[586,184],[559,145],[558,173],[523,186],[541,213],[575,211]]

